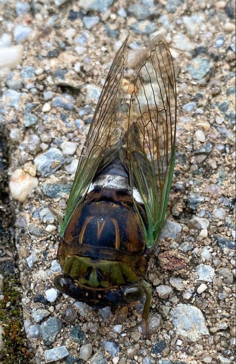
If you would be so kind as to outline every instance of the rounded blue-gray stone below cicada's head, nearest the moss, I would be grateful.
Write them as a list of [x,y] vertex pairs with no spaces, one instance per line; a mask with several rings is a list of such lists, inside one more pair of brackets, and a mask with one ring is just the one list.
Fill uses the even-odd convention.
[[54,343],[57,334],[61,331],[62,322],[57,317],[50,317],[40,325],[41,337],[46,345]]

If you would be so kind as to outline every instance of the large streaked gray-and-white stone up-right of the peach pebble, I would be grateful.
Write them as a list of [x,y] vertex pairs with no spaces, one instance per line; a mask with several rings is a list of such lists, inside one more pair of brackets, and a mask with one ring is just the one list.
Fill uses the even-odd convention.
[[48,177],[63,165],[64,156],[60,150],[50,148],[47,152],[40,155],[40,157],[35,158],[34,162],[37,171],[39,171],[43,177]]

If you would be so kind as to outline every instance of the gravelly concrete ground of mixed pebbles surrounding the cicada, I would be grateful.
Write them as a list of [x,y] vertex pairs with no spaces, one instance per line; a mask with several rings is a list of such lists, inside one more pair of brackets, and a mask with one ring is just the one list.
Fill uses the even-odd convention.
[[[235,1],[1,0],[0,24],[0,123],[28,362],[233,363]],[[104,79],[128,33],[129,68],[161,33],[177,75],[172,212],[147,273],[148,338],[141,304],[92,310],[53,288],[61,268],[48,203],[65,209]]]

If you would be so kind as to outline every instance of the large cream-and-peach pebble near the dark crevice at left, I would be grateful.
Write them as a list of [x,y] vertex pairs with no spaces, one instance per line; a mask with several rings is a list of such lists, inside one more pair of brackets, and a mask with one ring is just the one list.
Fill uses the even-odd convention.
[[16,169],[11,177],[9,188],[11,195],[19,202],[24,202],[27,196],[39,185],[37,177],[32,177],[22,169]]

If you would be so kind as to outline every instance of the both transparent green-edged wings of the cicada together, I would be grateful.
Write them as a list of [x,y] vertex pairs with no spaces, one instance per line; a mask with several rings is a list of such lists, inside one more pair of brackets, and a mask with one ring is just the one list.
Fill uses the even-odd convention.
[[[137,63],[130,83],[124,77],[127,39],[109,70],[79,159],[60,235],[84,199],[95,175],[119,156],[129,171],[131,191],[139,190],[148,230],[156,244],[165,222],[175,161],[176,83],[169,47],[156,36]],[[128,86],[128,87],[127,87]],[[124,102],[121,90],[128,89]],[[134,205],[137,212],[135,199]]]

